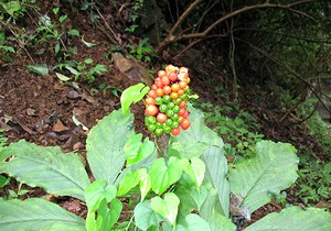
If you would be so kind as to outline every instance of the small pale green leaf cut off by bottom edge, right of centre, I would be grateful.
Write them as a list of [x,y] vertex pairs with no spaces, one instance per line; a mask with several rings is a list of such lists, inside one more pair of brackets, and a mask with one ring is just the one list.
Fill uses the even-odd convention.
[[211,231],[209,223],[200,216],[190,213],[185,218],[186,226],[179,224],[177,231]]

